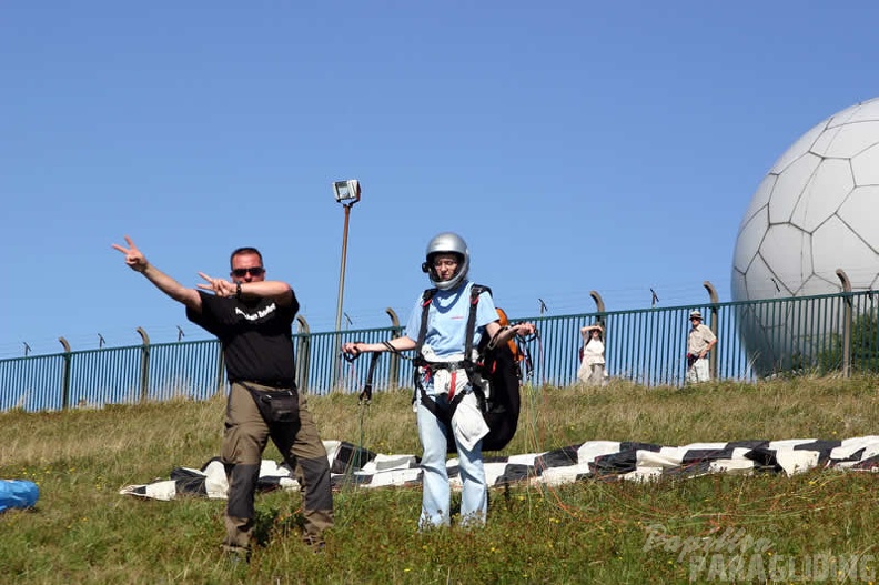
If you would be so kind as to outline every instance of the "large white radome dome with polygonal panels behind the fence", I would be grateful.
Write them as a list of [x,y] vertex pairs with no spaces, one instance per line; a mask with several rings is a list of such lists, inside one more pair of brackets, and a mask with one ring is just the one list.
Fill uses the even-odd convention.
[[[837,293],[837,269],[852,290],[879,286],[879,98],[818,123],[760,182],[736,239],[732,300]],[[768,330],[790,324],[755,319],[740,320],[742,341],[767,372],[786,361]]]

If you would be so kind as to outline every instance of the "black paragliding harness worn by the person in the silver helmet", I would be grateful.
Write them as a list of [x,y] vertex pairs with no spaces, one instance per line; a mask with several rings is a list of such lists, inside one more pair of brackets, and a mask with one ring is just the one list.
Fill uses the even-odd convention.
[[[424,357],[422,349],[424,347],[424,339],[427,335],[427,313],[436,291],[436,289],[427,289],[422,295],[421,329],[418,330],[418,339],[416,340],[415,346],[417,355],[413,359],[415,394],[412,400],[414,402],[416,397],[421,399],[422,404],[449,428],[447,433],[447,452],[454,453],[455,440],[451,432],[452,417],[465,395],[464,392],[454,393],[454,373],[457,370],[464,370],[469,379],[473,393],[476,396],[479,412],[483,414],[483,418],[485,418],[488,425],[488,434],[482,440],[482,448],[483,451],[502,450],[509,443],[513,435],[516,434],[516,427],[518,426],[521,410],[519,386],[522,379],[519,359],[522,352],[514,354],[511,350],[511,344],[507,343],[499,345],[495,344],[496,336],[487,341],[487,343],[486,339],[483,337],[483,343],[481,343],[477,349],[477,356],[475,359],[473,357],[473,334],[476,330],[476,306],[479,302],[479,295],[483,292],[487,292],[488,294],[492,293],[489,288],[474,284],[471,288],[464,359],[459,362],[428,362]],[[515,344],[513,344],[513,346],[515,346]],[[443,369],[452,371],[453,374],[447,405],[438,404],[427,395],[422,384],[421,375],[421,371],[424,371],[427,376],[431,376],[434,371]]]

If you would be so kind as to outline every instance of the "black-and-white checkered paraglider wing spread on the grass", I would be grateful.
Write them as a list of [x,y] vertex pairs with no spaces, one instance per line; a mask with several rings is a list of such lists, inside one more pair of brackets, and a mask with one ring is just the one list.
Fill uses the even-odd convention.
[[[334,488],[386,487],[421,484],[418,458],[410,454],[380,454],[351,443],[324,441]],[[461,488],[457,460],[448,460],[453,488]],[[485,460],[489,486],[516,483],[557,485],[588,480],[653,480],[695,477],[713,473],[784,473],[792,475],[818,467],[852,471],[879,468],[879,436],[842,441],[794,438],[786,441],[735,441],[663,446],[650,443],[587,441],[543,453]],[[299,490],[286,465],[263,461],[259,488]],[[200,468],[180,467],[169,480],[129,485],[120,494],[154,500],[179,495],[224,498],[225,471],[219,458]]]

